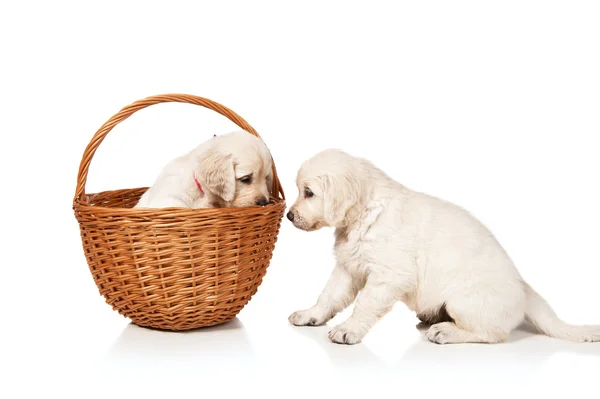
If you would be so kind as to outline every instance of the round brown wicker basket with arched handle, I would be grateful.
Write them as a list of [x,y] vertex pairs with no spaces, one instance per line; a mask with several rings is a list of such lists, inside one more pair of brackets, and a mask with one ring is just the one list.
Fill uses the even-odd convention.
[[153,104],[201,105],[258,133],[230,109],[185,94],[148,97],[110,118],[79,166],[73,210],[94,281],[106,302],[140,326],[182,331],[233,319],[256,293],[269,266],[285,210],[273,165],[265,207],[132,209],[144,188],[86,194],[88,168],[106,135]]

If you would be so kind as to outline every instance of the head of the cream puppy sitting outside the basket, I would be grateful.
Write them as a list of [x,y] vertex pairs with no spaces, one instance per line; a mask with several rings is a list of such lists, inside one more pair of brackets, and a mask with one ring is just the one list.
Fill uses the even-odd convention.
[[354,158],[339,150],[326,150],[300,167],[296,178],[298,199],[287,218],[306,231],[343,227],[350,208],[361,196]]

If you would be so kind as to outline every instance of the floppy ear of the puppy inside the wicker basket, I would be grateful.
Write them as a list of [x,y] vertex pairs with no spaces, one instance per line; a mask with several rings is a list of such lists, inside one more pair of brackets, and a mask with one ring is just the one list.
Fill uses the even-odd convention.
[[235,196],[233,156],[211,149],[202,154],[198,177],[211,193],[227,202]]

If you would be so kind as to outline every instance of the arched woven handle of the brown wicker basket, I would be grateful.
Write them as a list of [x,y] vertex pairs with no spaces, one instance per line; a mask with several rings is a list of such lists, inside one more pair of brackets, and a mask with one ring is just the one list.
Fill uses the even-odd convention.
[[[80,198],[83,198],[83,196],[85,195],[85,184],[87,182],[87,174],[88,169],[90,167],[90,163],[92,162],[92,158],[94,157],[96,150],[98,149],[106,135],[115,126],[123,122],[125,119],[129,118],[135,112],[154,104],[168,102],[188,103],[206,107],[225,116],[227,119],[229,119],[242,129],[246,130],[248,133],[251,133],[258,138],[261,138],[256,132],[256,130],[254,130],[254,128],[250,126],[248,122],[246,122],[241,116],[239,116],[229,108],[225,107],[224,105],[221,105],[207,98],[198,97],[190,94],[163,94],[158,96],[146,97],[121,109],[118,113],[113,115],[112,118],[106,121],[106,123],[104,123],[104,125],[102,125],[100,129],[98,129],[96,134],[94,134],[94,137],[92,137],[92,140],[83,152],[83,157],[81,158],[81,163],[79,164],[79,173],[77,174],[77,188],[75,189],[75,197],[73,201],[77,201]],[[275,162],[273,162],[273,194],[281,194],[281,198],[285,199],[283,188],[281,187],[279,177],[277,176]]]

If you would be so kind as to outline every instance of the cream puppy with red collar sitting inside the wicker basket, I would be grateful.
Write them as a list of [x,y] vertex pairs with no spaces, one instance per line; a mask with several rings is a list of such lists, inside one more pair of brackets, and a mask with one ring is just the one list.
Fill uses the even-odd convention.
[[246,131],[215,136],[171,161],[135,208],[225,208],[269,203],[272,158]]

